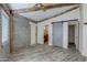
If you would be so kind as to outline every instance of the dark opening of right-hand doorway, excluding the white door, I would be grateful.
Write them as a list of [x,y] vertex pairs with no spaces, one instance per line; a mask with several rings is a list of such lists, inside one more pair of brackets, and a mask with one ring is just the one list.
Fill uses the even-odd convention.
[[76,47],[75,44],[75,24],[68,25],[68,47]]

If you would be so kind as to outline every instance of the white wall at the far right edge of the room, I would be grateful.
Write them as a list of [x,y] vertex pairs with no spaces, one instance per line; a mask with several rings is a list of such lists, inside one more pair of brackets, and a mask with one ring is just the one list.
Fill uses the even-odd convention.
[[81,23],[81,43],[80,43],[80,52],[83,55],[87,56],[87,24],[84,24],[84,23],[87,23],[87,4],[81,4],[80,6],[80,13],[81,13],[81,20],[80,20],[80,23]]

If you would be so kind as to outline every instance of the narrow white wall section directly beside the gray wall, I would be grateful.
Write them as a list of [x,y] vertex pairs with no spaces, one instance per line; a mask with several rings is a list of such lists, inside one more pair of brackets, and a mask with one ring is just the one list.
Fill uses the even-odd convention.
[[36,44],[36,24],[29,22],[31,24],[31,45]]

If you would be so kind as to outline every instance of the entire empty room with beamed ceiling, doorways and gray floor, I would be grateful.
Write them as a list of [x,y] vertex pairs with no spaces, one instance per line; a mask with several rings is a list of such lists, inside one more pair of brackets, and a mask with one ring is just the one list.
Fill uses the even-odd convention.
[[0,62],[87,62],[87,3],[0,3]]

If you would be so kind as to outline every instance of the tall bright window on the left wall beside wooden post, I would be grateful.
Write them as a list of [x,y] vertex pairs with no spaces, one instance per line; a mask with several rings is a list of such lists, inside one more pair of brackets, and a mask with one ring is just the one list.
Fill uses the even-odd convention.
[[2,20],[2,43],[9,40],[9,18],[4,11],[1,13]]

